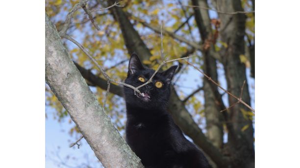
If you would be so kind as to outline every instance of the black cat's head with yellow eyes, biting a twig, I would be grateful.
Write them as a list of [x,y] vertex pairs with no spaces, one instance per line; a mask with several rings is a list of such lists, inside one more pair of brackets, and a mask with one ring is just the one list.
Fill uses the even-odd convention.
[[[127,104],[144,109],[165,108],[170,97],[171,82],[177,65],[155,74],[152,82],[139,88],[142,95],[129,87],[124,87],[125,101]],[[145,68],[138,56],[133,53],[129,60],[126,84],[137,87],[146,83],[155,71]]]

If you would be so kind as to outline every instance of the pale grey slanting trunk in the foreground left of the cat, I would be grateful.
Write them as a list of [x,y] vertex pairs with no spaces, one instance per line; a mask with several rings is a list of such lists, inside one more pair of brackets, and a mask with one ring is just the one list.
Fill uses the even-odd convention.
[[143,168],[99,105],[46,14],[46,82],[105,168]]

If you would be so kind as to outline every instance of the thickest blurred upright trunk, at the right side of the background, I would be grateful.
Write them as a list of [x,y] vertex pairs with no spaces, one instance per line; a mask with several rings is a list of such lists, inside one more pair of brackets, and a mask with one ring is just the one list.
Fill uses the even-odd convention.
[[[218,1],[220,11],[234,12],[243,11],[240,0],[220,0]],[[245,54],[245,14],[225,15],[219,14],[221,20],[221,40],[227,43],[227,47],[222,49],[223,65],[225,68],[225,76],[227,89],[234,95],[239,96],[244,80],[242,100],[250,105],[250,96],[246,79],[246,67],[240,61],[240,55]],[[228,24],[226,24],[228,23]],[[226,27],[224,27],[226,26]],[[236,102],[236,99],[228,97],[229,105]],[[254,168],[254,147],[253,147],[253,126],[252,121],[243,116],[243,111],[249,111],[242,104],[237,104],[229,109],[229,118],[233,125],[234,131],[237,133],[237,141],[231,141],[228,136],[229,145],[232,147],[231,157],[235,161],[236,168]],[[244,126],[249,127],[242,131]]]

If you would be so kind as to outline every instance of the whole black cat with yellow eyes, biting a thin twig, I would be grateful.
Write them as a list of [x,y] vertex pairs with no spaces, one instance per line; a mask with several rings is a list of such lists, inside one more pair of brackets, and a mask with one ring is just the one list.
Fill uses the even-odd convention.
[[[147,82],[154,70],[131,55],[126,84]],[[127,109],[126,141],[146,168],[210,168],[203,153],[188,141],[167,112],[171,81],[177,65],[157,73],[141,87],[142,95],[124,87]]]

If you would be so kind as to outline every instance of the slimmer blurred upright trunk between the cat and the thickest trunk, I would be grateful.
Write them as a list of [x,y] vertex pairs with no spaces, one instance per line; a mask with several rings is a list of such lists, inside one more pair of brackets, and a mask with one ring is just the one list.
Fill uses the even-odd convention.
[[[206,0],[192,0],[193,5],[208,7]],[[201,35],[201,41],[205,41],[212,38],[211,20],[207,10],[200,10],[194,8],[195,20],[199,28]],[[210,42],[210,47],[207,51],[202,52],[203,55],[203,69],[204,73],[212,78],[214,81],[218,81],[217,75],[217,63],[216,59],[211,56],[211,52],[214,50],[214,44]],[[221,123],[221,113],[216,105],[216,99],[213,90],[210,86],[210,81],[203,78],[203,90],[204,90],[204,113],[206,119],[207,137],[213,143],[215,147],[221,148],[223,145],[223,125]],[[217,86],[214,86],[215,89]]]

